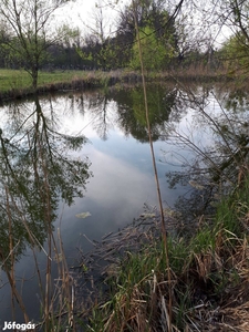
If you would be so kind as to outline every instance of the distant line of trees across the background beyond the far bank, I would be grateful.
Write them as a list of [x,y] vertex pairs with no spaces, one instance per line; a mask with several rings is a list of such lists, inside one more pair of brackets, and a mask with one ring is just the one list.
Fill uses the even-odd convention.
[[[95,27],[86,27],[84,38],[80,29],[53,28],[55,11],[69,1],[1,0],[0,66],[27,70],[33,89],[37,89],[39,70],[137,70],[139,39],[146,70],[188,66],[217,70],[220,64],[229,66],[231,72],[241,66],[248,69],[248,0],[210,0],[209,12],[216,17],[209,22],[208,14],[199,33],[193,28],[196,19],[191,25],[189,17],[183,14],[184,10],[180,12],[191,1],[176,0],[174,6],[167,0],[131,1],[118,12],[112,34],[106,33],[102,6],[97,6]],[[198,11],[208,13],[200,7]],[[205,31],[214,22],[234,29],[230,40],[218,52],[214,39]]]

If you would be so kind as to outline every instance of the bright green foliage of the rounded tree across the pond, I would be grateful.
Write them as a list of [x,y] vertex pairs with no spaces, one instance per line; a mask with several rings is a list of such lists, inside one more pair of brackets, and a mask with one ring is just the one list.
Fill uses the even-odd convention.
[[[172,58],[176,55],[177,33],[174,19],[169,20],[169,14],[165,10],[165,1],[137,1],[136,9],[129,10],[133,11],[132,17],[134,13],[136,15],[139,30],[138,35],[134,33],[135,21],[129,22],[134,35],[129,66],[141,68],[137,44],[139,39],[144,68],[153,71],[167,68]],[[128,9],[126,11],[128,13]]]

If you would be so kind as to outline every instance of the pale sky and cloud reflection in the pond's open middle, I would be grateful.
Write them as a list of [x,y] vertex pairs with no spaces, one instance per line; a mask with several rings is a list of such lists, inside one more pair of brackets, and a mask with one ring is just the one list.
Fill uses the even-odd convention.
[[[73,152],[72,155],[74,157],[89,157],[93,177],[86,185],[83,198],[75,197],[71,207],[63,203],[59,205],[59,220],[54,226],[55,229],[59,225],[61,226],[64,250],[70,263],[73,263],[74,258],[77,257],[76,247],[84,251],[92,249],[91,243],[83,235],[86,235],[91,240],[100,240],[104,235],[123,228],[132,222],[133,218],[138,217],[143,211],[144,203],[151,206],[157,205],[149,145],[123,133],[121,125],[116,123],[118,117],[116,103],[107,102],[105,110],[107,123],[105,139],[103,139],[100,137],[100,114],[93,113],[87,107],[84,107],[84,112],[82,112],[82,108],[73,105],[72,102],[69,96],[52,100],[53,118],[58,123],[56,129],[60,133],[75,136],[83,134],[90,139],[90,143],[79,152]],[[49,102],[41,100],[40,103],[42,112],[49,115]],[[27,110],[32,110],[32,103],[25,105]],[[4,124],[2,125],[4,126]],[[160,149],[165,144],[164,142],[156,142],[154,146],[163,199],[167,205],[173,205],[179,191],[167,189],[165,173],[168,166],[159,162]],[[77,214],[86,211],[91,214],[87,218],[80,219],[76,217]],[[43,270],[45,268],[44,253],[40,252],[38,259],[41,270]],[[34,273],[34,264],[29,249],[17,263],[15,271],[17,276],[25,279]],[[4,272],[1,273],[1,279],[4,283]],[[22,294],[28,312],[32,312],[32,318],[39,317],[39,300],[35,295],[38,292],[35,278],[24,282]],[[0,289],[0,326],[4,321],[11,320],[9,297],[8,286]],[[35,307],[37,310],[34,310]],[[21,320],[21,318],[22,314],[17,315],[17,319]]]

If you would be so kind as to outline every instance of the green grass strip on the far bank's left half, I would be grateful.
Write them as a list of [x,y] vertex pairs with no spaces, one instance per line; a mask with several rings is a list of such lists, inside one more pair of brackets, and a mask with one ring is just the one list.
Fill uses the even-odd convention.
[[[133,77],[133,75],[132,75]],[[136,80],[135,75],[135,80]],[[52,71],[39,72],[37,92],[48,93],[66,90],[106,89],[118,82],[133,83],[127,72],[113,71]],[[22,98],[34,93],[31,76],[24,70],[0,70],[0,101]]]

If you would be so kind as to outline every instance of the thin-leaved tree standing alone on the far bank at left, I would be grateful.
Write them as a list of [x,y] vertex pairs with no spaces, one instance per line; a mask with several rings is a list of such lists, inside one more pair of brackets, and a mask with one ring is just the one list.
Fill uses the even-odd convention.
[[0,17],[9,39],[1,44],[10,58],[31,75],[37,90],[38,71],[48,49],[60,41],[63,29],[52,24],[54,12],[70,0],[1,0]]

